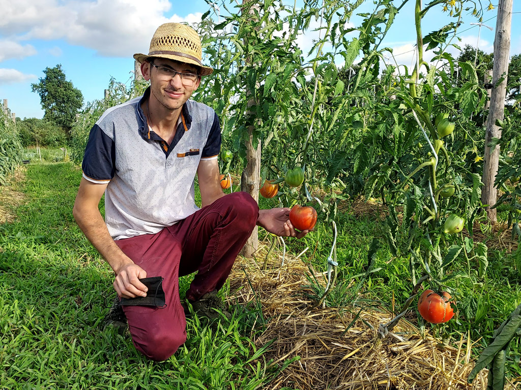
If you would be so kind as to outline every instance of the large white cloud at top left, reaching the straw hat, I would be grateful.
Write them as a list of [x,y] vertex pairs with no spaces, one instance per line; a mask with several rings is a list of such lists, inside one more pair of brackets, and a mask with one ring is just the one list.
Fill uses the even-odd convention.
[[130,57],[148,51],[155,29],[166,22],[195,23],[202,14],[164,17],[168,0],[0,0],[0,34],[23,40],[65,39],[98,55]]

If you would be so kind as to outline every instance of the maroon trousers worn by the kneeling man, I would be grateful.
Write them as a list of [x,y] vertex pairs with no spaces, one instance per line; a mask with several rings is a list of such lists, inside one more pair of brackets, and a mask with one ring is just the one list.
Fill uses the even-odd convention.
[[147,277],[164,278],[165,308],[123,306],[132,341],[146,357],[166,360],[187,339],[179,277],[197,271],[187,291],[191,301],[219,290],[255,227],[258,211],[249,194],[234,192],[154,235],[116,241]]

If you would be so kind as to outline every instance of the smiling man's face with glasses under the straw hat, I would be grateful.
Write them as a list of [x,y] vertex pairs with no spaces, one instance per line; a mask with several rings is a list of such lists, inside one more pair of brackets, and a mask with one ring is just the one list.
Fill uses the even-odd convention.
[[[164,75],[164,68],[173,69],[180,73],[195,73],[197,68],[191,64],[173,61],[165,58],[152,59],[153,66],[150,62],[145,62],[143,74],[145,80],[150,80],[151,92],[156,100],[169,110],[176,110],[192,96],[194,90],[199,87],[201,79],[198,77],[192,85],[190,82],[181,79],[181,75],[176,74],[173,78]],[[159,68],[158,68],[159,67]]]

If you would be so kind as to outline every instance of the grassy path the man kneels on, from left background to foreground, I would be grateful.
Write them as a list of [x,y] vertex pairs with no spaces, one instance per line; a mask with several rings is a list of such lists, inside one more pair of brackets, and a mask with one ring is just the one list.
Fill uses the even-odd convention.
[[0,389],[254,389],[272,379],[262,358],[252,362],[262,350],[242,336],[254,316],[240,309],[217,330],[189,320],[189,340],[163,363],[103,330],[113,276],[73,221],[80,178],[69,163],[30,165],[16,185],[26,202],[0,225]]

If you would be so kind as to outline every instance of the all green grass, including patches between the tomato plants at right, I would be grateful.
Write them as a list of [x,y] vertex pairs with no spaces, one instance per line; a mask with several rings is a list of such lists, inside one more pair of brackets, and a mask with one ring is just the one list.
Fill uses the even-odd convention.
[[[80,178],[81,171],[68,162],[28,165],[26,178],[15,188],[24,193],[26,202],[16,208],[14,222],[0,225],[0,389],[265,387],[284,365],[268,369],[265,349],[253,345],[253,337],[262,332],[258,323],[254,325],[258,315],[254,302],[249,308],[235,308],[232,320],[223,318],[212,327],[189,319],[187,343],[163,363],[143,358],[129,336],[103,329],[114,297],[113,272],[72,218]],[[272,199],[260,202],[263,208],[277,205]],[[100,205],[103,210],[103,202]],[[365,279],[362,276],[369,245],[382,234],[380,222],[374,217],[355,218],[350,212],[339,213],[336,222],[339,275],[327,305],[355,311],[369,306],[390,309],[393,303],[399,308],[412,288],[406,258],[392,258],[381,246],[374,264],[381,269]],[[262,239],[265,232],[259,234]],[[308,247],[303,261],[327,270],[330,224],[319,222],[304,239],[286,239],[286,243],[295,254]],[[280,253],[281,248],[276,250]],[[458,301],[472,297],[476,315],[465,318],[458,313],[455,320],[436,328],[449,341],[468,331],[473,340],[482,337],[476,355],[521,302],[521,276],[514,256],[490,251],[489,263],[481,284],[463,280],[457,285]],[[190,281],[181,278],[182,294]],[[225,286],[223,293],[228,289]],[[321,293],[317,288],[317,297]],[[414,311],[413,307],[407,316],[413,321]],[[507,358],[512,376],[521,375],[520,352],[517,339]]]

